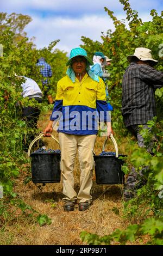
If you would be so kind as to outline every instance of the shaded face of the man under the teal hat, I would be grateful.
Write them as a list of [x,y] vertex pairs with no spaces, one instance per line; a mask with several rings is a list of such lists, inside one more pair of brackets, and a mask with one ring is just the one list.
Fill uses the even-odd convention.
[[77,56],[72,59],[72,68],[75,73],[82,74],[86,71],[86,59],[83,56]]

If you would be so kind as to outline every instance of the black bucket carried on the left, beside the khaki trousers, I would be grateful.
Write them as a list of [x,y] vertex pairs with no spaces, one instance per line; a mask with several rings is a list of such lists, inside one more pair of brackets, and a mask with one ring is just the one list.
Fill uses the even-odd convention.
[[60,154],[32,153],[30,156],[34,183],[60,182]]

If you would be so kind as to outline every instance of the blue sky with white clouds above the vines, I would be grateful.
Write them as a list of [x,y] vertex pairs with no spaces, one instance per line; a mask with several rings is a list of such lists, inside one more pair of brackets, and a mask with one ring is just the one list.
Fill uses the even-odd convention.
[[[143,21],[151,20],[150,11],[160,14],[163,0],[130,0],[131,8],[139,12]],[[123,5],[118,0],[4,0],[0,10],[30,15],[32,22],[25,31],[29,38],[35,36],[37,48],[48,46],[60,39],[57,48],[68,52],[78,47],[81,36],[101,41],[101,32],[114,30],[114,25],[104,7],[114,11],[118,19],[125,19]]]

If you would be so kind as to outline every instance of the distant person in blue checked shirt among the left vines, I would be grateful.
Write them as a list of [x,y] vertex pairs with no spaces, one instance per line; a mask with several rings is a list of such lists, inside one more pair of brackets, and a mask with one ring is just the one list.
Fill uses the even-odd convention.
[[42,86],[44,88],[45,96],[47,96],[49,104],[53,104],[52,95],[48,94],[49,87],[49,80],[48,77],[52,77],[52,69],[51,66],[46,63],[45,58],[41,57],[37,60],[36,66],[40,66],[40,73],[43,77],[47,77],[46,79],[42,80]]

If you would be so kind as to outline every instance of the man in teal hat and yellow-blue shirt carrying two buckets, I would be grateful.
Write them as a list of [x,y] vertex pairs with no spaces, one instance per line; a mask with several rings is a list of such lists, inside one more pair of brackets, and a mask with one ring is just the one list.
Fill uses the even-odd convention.
[[[92,150],[98,132],[97,118],[99,118],[99,112],[103,112],[102,118],[107,124],[108,137],[111,133],[104,82],[90,71],[90,65],[92,64],[92,60],[87,57],[83,48],[73,48],[71,50],[70,59],[66,63],[66,66],[69,66],[67,75],[58,82],[51,120],[43,131],[45,136],[50,136],[48,132],[53,131],[53,122],[55,123],[56,120],[55,114],[57,115],[57,111],[63,114],[62,121],[61,119],[59,121],[58,132],[65,211],[73,211],[76,201],[79,203],[79,211],[87,210],[92,201],[90,195],[94,168]],[[90,118],[84,118],[85,113],[89,114]],[[95,116],[92,117],[93,113],[95,113]],[[76,117],[74,126],[72,125],[73,117]],[[78,194],[74,191],[73,177],[77,149],[80,163],[80,189]]]

